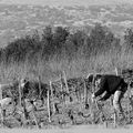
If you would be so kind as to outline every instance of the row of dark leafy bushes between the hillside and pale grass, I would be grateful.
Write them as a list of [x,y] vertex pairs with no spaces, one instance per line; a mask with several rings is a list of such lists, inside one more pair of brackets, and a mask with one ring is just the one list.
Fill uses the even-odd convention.
[[[130,40],[131,34],[125,35],[125,40]],[[27,34],[10,42],[0,50],[0,57],[1,62],[6,64],[24,61],[38,64],[39,61],[51,59],[57,61],[62,59],[72,61],[83,57],[90,59],[93,55],[106,54],[111,51],[121,51],[120,40],[108,27],[100,23],[96,23],[91,32],[85,30],[71,32],[69,28],[57,27],[53,29],[48,25],[42,33],[35,30],[31,35]]]

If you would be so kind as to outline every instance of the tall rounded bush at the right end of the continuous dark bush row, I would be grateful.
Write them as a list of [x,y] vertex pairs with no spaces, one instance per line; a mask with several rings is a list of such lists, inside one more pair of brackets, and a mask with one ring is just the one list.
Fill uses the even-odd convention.
[[90,49],[95,53],[108,51],[114,41],[114,34],[106,28],[96,23],[90,33]]

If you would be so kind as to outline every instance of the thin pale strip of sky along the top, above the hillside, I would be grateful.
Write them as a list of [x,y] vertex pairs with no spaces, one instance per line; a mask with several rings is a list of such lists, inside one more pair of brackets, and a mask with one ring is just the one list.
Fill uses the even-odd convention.
[[89,6],[89,4],[115,4],[132,3],[133,0],[0,0],[0,3],[8,4],[48,4],[48,6]]

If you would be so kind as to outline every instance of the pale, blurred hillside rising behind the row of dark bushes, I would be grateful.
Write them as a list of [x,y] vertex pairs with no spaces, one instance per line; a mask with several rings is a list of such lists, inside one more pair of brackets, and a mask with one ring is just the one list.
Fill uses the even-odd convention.
[[0,45],[4,47],[34,30],[42,31],[45,25],[69,27],[71,30],[88,27],[90,30],[100,22],[115,34],[122,35],[133,24],[132,0],[126,0],[126,4],[124,2],[125,0],[1,0]]

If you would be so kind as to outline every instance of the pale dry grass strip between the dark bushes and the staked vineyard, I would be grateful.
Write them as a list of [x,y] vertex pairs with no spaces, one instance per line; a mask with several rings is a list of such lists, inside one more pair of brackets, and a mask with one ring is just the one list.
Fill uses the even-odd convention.
[[20,78],[37,80],[41,76],[43,82],[57,79],[62,71],[65,71],[68,79],[86,76],[90,72],[114,73],[115,66],[127,69],[133,66],[133,53],[103,53],[90,58],[78,57],[71,61],[51,59],[50,61],[38,60],[34,64],[25,61],[24,63],[12,63],[8,66],[0,65],[0,81],[11,82]]

